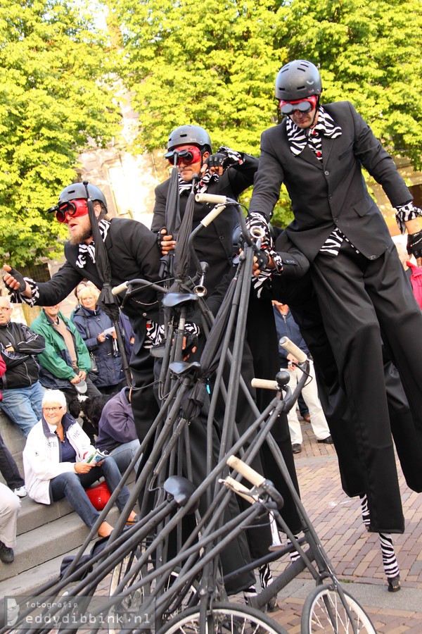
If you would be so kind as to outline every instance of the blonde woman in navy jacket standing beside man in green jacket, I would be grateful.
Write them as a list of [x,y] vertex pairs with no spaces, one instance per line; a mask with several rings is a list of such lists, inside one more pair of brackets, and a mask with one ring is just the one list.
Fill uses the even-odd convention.
[[89,350],[94,384],[103,394],[114,394],[124,383],[122,357],[113,322],[97,306],[98,297],[95,287],[82,288],[72,319]]

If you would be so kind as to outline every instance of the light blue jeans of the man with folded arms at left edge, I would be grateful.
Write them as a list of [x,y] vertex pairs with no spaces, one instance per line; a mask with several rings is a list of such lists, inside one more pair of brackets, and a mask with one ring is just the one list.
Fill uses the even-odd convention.
[[41,418],[41,401],[44,387],[35,381],[30,387],[12,387],[1,390],[0,407],[27,436]]

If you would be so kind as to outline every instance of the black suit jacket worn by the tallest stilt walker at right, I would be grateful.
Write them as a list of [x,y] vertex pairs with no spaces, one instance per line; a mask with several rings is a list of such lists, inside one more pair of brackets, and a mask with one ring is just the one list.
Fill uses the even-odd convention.
[[284,182],[295,215],[286,232],[312,261],[335,226],[364,256],[376,259],[391,244],[385,220],[371,198],[362,166],[382,185],[392,206],[412,196],[394,161],[349,101],[324,105],[342,134],[322,137],[322,161],[306,147],[290,151],[286,121],[262,133],[260,165],[250,211],[271,217]]

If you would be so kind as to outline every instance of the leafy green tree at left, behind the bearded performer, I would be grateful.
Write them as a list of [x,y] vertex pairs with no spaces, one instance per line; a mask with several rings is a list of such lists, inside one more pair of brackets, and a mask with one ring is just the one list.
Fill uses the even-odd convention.
[[80,3],[0,0],[0,255],[14,266],[60,251],[45,210],[81,149],[116,130],[110,64]]

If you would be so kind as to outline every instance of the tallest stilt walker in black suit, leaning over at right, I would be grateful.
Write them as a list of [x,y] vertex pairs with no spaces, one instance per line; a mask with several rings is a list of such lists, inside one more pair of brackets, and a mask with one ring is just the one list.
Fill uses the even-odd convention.
[[381,341],[402,378],[422,449],[422,342],[415,336],[422,313],[362,167],[397,210],[416,258],[422,255],[422,212],[354,106],[349,101],[321,106],[321,91],[319,70],[309,61],[295,60],[279,71],[276,98],[286,118],[262,133],[248,224],[255,220],[268,230],[284,183],[295,216],[286,234],[311,263],[339,382],[353,409],[369,530],[402,533]]

